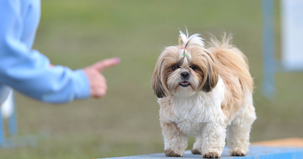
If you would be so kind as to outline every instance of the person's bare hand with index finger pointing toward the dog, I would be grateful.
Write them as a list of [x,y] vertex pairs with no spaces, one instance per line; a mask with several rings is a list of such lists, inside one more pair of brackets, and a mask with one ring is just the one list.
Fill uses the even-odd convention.
[[83,68],[83,71],[87,75],[90,84],[91,97],[102,98],[106,94],[106,79],[100,72],[105,68],[117,65],[119,63],[120,58],[109,58]]

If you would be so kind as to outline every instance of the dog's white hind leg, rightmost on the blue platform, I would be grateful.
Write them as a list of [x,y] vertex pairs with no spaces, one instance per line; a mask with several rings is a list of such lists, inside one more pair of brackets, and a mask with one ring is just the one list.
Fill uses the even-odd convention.
[[242,105],[231,125],[227,127],[227,143],[232,156],[245,156],[248,152],[249,133],[256,119],[252,102]]

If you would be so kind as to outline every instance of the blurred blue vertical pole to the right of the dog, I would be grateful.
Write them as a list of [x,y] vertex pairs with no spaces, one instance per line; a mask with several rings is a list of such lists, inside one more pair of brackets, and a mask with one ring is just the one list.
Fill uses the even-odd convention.
[[274,1],[262,0],[263,93],[270,98],[275,93]]

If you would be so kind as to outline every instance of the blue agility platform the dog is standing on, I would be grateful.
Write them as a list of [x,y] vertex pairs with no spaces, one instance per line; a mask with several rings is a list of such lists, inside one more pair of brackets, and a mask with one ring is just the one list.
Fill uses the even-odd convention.
[[[191,159],[203,158],[201,154],[192,154],[190,150],[185,151],[183,157],[166,157],[164,153],[146,154],[138,156],[114,157],[111,159]],[[244,157],[231,156],[228,148],[225,147],[221,158],[229,159],[303,159],[303,148],[291,147],[263,147],[251,146]]]

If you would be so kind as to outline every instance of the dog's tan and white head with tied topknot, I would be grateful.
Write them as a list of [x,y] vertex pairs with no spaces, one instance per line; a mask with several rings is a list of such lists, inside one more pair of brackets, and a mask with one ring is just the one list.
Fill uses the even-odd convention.
[[[199,34],[188,37],[180,31],[177,46],[166,47],[158,57],[151,86],[158,98],[167,94],[192,96],[197,91],[209,92],[218,83],[217,61],[204,48]],[[181,43],[182,41],[182,43]]]

